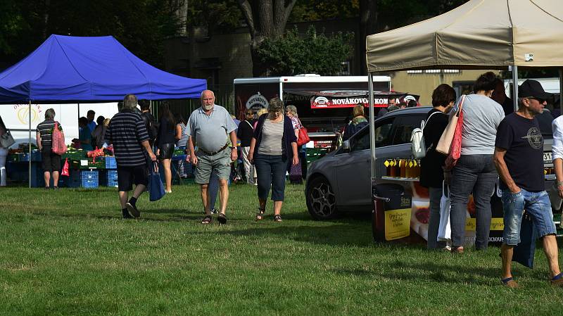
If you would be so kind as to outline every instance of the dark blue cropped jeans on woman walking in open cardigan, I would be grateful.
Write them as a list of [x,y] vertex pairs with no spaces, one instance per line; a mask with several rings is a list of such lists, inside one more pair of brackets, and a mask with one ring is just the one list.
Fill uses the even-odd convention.
[[284,201],[286,189],[286,156],[256,154],[254,166],[258,180],[258,198],[265,200],[272,187],[272,201]]

